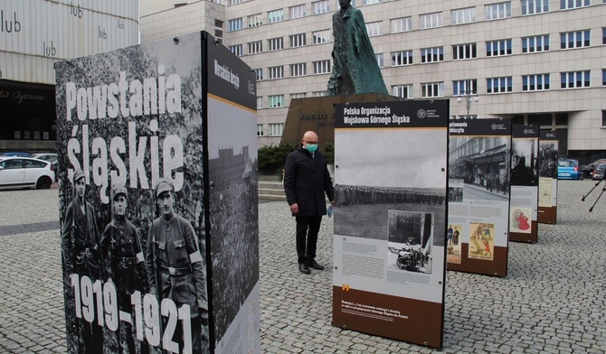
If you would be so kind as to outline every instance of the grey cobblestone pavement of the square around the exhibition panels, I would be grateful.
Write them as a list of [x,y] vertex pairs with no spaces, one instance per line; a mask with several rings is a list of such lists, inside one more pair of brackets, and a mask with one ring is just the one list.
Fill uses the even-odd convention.
[[[444,353],[606,352],[606,193],[560,181],[557,225],[536,245],[509,244],[504,278],[448,272]],[[298,272],[286,203],[260,210],[260,325],[264,353],[433,353],[331,326],[332,219],[317,261]],[[0,352],[65,352],[57,190],[0,191]],[[402,331],[406,331],[402,328]]]

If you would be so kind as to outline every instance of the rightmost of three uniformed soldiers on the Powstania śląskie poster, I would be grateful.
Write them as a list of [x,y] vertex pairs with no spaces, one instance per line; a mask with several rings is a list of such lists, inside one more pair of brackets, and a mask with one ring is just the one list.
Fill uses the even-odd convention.
[[[175,189],[165,179],[156,182],[155,196],[161,216],[149,226],[147,238],[147,281],[149,292],[156,295],[158,303],[172,300],[177,309],[189,305],[191,316],[192,353],[203,353],[202,326],[208,325],[206,275],[198,237],[189,221],[175,214]],[[164,318],[166,319],[166,318]],[[204,323],[203,323],[204,322]],[[171,340],[178,343],[183,352],[189,338],[183,321],[177,321]],[[166,321],[164,321],[166,328]],[[165,346],[168,343],[163,343]],[[207,340],[204,342],[204,352]]]

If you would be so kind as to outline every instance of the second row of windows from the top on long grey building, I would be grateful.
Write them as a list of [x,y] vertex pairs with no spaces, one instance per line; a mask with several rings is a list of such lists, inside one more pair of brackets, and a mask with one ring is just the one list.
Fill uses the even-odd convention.
[[[321,44],[330,42],[330,30],[317,31],[312,34],[312,43]],[[522,37],[522,53],[533,53],[550,50],[550,35],[536,35]],[[290,48],[306,45],[306,33],[298,33],[289,36]],[[606,27],[601,29],[601,44],[606,44]],[[478,58],[477,43],[455,44],[452,46],[452,60],[464,60]],[[560,49],[586,48],[591,46],[591,30],[581,30],[560,33]],[[486,56],[497,57],[511,55],[513,47],[512,39],[502,39],[486,42]],[[243,55],[242,44],[228,47],[235,55]],[[279,51],[284,49],[284,38],[276,37],[267,40],[267,51]],[[248,53],[256,54],[263,52],[263,41],[248,43]],[[444,61],[444,47],[421,48],[421,62]],[[392,52],[392,66],[412,64],[412,50]],[[382,65],[380,65],[382,66]]]

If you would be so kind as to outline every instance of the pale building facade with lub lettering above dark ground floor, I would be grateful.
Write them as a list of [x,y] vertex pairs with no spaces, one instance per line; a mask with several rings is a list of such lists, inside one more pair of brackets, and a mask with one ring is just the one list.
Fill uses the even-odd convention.
[[54,63],[138,43],[137,0],[0,1],[0,151],[54,151]]

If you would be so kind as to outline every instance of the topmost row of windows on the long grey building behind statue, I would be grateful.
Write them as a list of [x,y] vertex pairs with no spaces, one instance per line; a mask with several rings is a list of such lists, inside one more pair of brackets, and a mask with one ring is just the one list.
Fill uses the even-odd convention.
[[[230,0],[232,1],[232,0]],[[371,5],[368,3],[376,4],[381,3],[380,0],[364,0],[363,5]],[[352,5],[355,6],[355,2]],[[544,14],[549,12],[549,0],[520,0],[522,15],[529,14]],[[590,0],[560,0],[560,10],[570,10],[579,7],[585,7],[590,5]],[[325,14],[330,11],[330,1],[321,0],[311,3],[313,14]],[[338,1],[336,4],[338,8]],[[290,6],[288,9],[289,19],[297,19],[306,16],[306,5],[295,5]],[[248,27],[258,26],[263,24],[263,14],[251,14],[247,17]],[[486,21],[498,20],[502,18],[511,17],[511,1],[506,1],[497,4],[484,5],[484,19]],[[435,27],[442,27],[444,25],[444,14],[443,12],[436,12],[431,14],[419,15],[419,29],[428,29]],[[277,23],[284,21],[284,9],[277,9],[267,12],[267,22]],[[459,9],[450,10],[450,23],[452,25],[463,24],[463,23],[475,23],[477,21],[477,10],[476,7],[465,7]],[[243,28],[244,19],[242,17],[229,20],[229,31],[238,31]],[[379,33],[369,35],[380,34],[381,28],[380,23],[372,25],[372,30],[378,31]],[[391,20],[392,33],[399,33],[405,31],[412,31],[412,17],[402,17]]]

